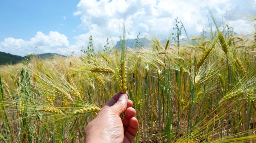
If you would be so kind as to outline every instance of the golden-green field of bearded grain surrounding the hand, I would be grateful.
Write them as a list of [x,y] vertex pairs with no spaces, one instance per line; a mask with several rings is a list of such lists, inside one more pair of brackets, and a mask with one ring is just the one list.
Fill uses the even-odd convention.
[[[256,32],[228,25],[181,39],[138,37],[80,56],[27,56],[0,67],[0,142],[82,143],[85,126],[117,92],[137,111],[134,143],[256,142]],[[255,18],[250,18],[252,24]]]

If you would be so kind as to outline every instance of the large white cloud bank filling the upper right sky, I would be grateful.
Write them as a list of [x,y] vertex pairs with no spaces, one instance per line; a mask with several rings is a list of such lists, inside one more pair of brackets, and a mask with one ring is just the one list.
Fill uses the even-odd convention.
[[[165,39],[174,32],[174,20],[177,16],[189,36],[200,34],[203,27],[209,27],[207,16],[210,18],[210,8],[220,25],[224,24],[222,21],[230,22],[236,32],[242,34],[251,32],[252,27],[246,27],[248,24],[241,17],[233,17],[234,20],[229,18],[234,10],[239,14],[252,12],[251,5],[254,3],[255,0],[247,3],[240,0],[207,0],[205,3],[201,0],[92,0],[90,3],[81,0],[73,15],[81,18],[78,28],[89,31],[92,35],[96,34],[93,37],[119,37],[122,32],[122,19],[125,18],[129,38],[136,38],[141,31],[142,36],[147,34]],[[236,9],[237,6],[239,7]]]

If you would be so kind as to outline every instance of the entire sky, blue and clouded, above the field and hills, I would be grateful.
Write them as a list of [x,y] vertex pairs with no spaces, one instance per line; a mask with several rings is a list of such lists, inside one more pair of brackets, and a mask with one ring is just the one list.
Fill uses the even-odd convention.
[[220,26],[227,23],[241,35],[255,30],[248,16],[256,14],[256,0],[1,0],[0,51],[79,55],[90,35],[98,49],[106,38],[115,45],[122,25],[128,39],[139,32],[167,39],[176,17],[188,36],[196,36],[210,27],[209,9]]

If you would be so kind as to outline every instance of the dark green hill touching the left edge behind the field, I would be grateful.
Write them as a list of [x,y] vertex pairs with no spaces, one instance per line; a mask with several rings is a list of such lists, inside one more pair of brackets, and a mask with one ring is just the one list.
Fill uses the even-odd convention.
[[16,64],[23,60],[22,56],[0,52],[0,64]]

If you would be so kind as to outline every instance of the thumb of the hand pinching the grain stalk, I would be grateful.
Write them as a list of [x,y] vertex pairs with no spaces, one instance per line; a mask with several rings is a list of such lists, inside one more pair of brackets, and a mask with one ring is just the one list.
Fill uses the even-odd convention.
[[117,102],[111,106],[111,111],[117,113],[119,116],[122,115],[127,108],[128,96],[127,94],[121,94]]

